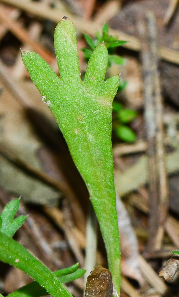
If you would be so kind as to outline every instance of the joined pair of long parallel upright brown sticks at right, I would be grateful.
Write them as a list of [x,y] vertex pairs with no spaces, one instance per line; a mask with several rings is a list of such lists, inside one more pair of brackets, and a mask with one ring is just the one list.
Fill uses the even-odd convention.
[[162,99],[158,72],[158,43],[154,16],[148,13],[147,29],[141,23],[139,27],[141,40],[143,40],[141,57],[144,76],[151,204],[147,250],[151,252],[161,248],[168,208],[168,188],[164,158]]

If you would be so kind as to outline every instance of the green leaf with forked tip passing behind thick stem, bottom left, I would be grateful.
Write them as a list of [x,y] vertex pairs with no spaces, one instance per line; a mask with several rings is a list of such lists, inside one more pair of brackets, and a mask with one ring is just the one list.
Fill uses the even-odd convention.
[[[53,272],[53,274],[58,277],[62,283],[72,282],[85,274],[85,270],[77,268],[79,263],[71,267],[67,267],[58,271]],[[31,282],[30,284],[10,293],[7,297],[40,297],[49,295],[48,292],[42,288],[38,282]]]

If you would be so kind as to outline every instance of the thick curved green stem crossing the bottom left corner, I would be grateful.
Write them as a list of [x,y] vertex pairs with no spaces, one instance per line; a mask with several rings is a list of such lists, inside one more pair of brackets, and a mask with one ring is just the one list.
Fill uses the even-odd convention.
[[1,232],[0,260],[26,272],[53,297],[72,297],[55,274],[18,242]]

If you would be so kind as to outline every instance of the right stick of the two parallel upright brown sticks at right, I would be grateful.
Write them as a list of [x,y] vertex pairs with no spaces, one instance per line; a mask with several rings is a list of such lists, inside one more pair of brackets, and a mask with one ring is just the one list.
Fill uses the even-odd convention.
[[162,244],[164,235],[164,223],[167,217],[169,199],[168,199],[168,181],[165,167],[165,151],[164,151],[164,127],[163,127],[163,102],[160,89],[159,78],[159,57],[158,57],[158,39],[156,19],[153,14],[148,14],[148,31],[149,38],[151,39],[151,55],[153,61],[153,89],[154,89],[154,104],[155,104],[155,122],[156,122],[156,163],[157,163],[157,179],[159,191],[159,213],[158,217],[158,230],[156,233],[156,246],[155,249],[159,250]]

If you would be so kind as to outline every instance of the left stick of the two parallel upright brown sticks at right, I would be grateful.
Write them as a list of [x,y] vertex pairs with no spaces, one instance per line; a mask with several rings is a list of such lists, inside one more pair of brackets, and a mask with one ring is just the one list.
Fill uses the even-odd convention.
[[157,226],[157,211],[158,211],[158,191],[157,191],[157,168],[155,156],[155,108],[153,102],[153,73],[151,68],[151,55],[148,42],[147,28],[141,20],[138,21],[138,28],[142,42],[141,60],[142,72],[144,80],[144,106],[145,106],[145,127],[148,142],[148,166],[149,166],[149,184],[151,213],[149,218],[149,241],[148,251],[155,246],[156,228]]

